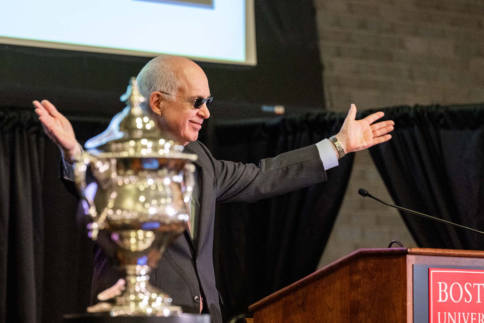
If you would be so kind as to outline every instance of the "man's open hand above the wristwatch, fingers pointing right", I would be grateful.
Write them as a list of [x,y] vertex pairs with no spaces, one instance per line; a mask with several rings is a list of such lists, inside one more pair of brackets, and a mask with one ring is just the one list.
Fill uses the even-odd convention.
[[373,124],[383,116],[384,113],[380,111],[361,120],[356,120],[356,105],[351,104],[348,117],[343,122],[341,130],[336,134],[336,138],[345,149],[345,153],[363,150],[390,140],[392,135],[388,132],[393,130],[395,124],[392,120]]

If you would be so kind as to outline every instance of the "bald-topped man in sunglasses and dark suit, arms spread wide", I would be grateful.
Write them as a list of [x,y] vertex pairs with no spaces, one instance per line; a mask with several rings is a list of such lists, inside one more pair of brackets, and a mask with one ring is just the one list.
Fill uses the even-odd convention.
[[[336,166],[339,158],[389,140],[388,132],[393,130],[393,121],[373,124],[383,112],[356,120],[356,106],[352,104],[340,132],[331,140],[261,160],[259,165],[217,161],[197,141],[203,121],[210,117],[213,98],[207,77],[195,62],[176,56],[157,57],[143,67],[137,82],[146,99],[142,106],[145,112],[185,146],[185,151],[198,156],[189,211],[191,228],[170,244],[150,281],[166,291],[183,311],[208,312],[214,323],[222,322],[222,299],[215,287],[212,259],[215,203],[254,202],[324,181],[325,170]],[[64,178],[72,181],[73,157],[80,154],[81,147],[70,122],[46,100],[33,104],[45,133],[61,149]],[[120,277],[115,265],[96,246],[91,295],[112,286]],[[117,291],[120,285],[109,291]]]

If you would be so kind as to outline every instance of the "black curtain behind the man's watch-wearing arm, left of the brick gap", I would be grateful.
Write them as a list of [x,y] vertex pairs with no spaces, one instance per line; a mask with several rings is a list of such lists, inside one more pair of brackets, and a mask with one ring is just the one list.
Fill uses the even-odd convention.
[[[345,115],[330,112],[266,123],[215,127],[217,159],[254,162],[337,133]],[[214,264],[225,319],[312,273],[341,205],[353,154],[328,181],[253,204],[216,208]]]

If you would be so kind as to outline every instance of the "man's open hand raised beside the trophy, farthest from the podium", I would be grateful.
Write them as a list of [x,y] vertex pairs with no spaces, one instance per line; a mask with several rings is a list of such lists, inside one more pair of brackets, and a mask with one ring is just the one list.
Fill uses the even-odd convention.
[[56,107],[48,102],[34,101],[35,113],[39,116],[45,134],[61,149],[65,161],[72,163],[73,157],[81,153],[72,125]]

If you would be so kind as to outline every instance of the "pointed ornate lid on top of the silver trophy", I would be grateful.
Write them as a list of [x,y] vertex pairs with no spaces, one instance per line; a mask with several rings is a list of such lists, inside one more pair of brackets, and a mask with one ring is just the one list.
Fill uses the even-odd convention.
[[183,153],[183,146],[166,137],[154,120],[141,109],[145,98],[136,77],[121,98],[126,107],[114,116],[104,132],[89,139],[84,147],[99,158],[177,158],[191,162],[197,155]]

